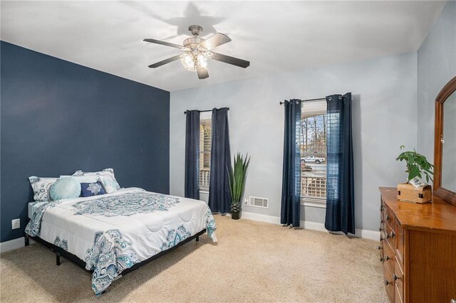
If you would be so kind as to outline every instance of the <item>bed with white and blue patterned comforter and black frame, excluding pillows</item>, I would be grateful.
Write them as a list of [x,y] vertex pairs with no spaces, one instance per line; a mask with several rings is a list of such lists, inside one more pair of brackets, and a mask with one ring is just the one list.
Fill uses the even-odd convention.
[[28,238],[46,245],[92,273],[98,296],[113,280],[165,252],[206,233],[214,242],[216,225],[203,201],[122,188],[101,196],[30,203]]

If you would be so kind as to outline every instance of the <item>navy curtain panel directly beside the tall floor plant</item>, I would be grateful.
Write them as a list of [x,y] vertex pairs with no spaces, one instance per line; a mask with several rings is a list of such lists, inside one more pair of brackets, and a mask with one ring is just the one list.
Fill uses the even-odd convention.
[[215,213],[229,213],[228,168],[231,167],[229,151],[228,109],[212,110],[211,171],[209,176],[209,207]]

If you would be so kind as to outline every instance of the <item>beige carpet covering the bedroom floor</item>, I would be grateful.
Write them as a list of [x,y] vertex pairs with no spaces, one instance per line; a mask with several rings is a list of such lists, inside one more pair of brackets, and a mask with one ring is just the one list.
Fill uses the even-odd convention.
[[207,235],[95,297],[90,275],[33,244],[0,256],[1,302],[388,302],[378,243],[215,216]]

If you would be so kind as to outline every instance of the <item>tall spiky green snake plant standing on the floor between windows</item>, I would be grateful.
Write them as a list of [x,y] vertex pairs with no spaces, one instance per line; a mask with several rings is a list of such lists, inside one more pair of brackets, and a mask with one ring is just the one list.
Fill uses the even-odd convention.
[[231,193],[231,218],[241,218],[242,197],[244,196],[247,169],[249,169],[250,157],[247,159],[241,153],[234,156],[233,166],[228,169],[229,191]]

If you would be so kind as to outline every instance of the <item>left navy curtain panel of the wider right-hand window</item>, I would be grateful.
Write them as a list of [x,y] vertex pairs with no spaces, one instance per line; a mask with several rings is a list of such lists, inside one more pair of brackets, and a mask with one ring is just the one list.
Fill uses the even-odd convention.
[[284,168],[280,223],[294,227],[299,227],[301,213],[301,148],[299,144],[301,102],[299,101],[294,99],[284,102]]

